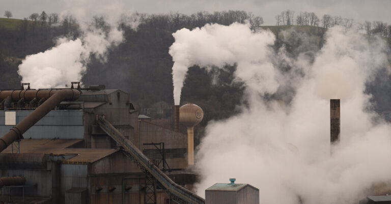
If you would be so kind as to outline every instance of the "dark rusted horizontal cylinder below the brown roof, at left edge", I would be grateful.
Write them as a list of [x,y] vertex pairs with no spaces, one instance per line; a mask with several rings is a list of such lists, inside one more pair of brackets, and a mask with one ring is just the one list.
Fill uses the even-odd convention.
[[47,154],[0,153],[0,168],[45,169]]

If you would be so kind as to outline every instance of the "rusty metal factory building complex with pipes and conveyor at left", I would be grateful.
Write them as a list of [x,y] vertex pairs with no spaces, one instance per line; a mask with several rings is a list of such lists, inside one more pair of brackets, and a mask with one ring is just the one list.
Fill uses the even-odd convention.
[[0,202],[205,203],[191,191],[187,135],[139,118],[124,91],[74,84],[1,90],[0,101],[0,177],[25,179]]

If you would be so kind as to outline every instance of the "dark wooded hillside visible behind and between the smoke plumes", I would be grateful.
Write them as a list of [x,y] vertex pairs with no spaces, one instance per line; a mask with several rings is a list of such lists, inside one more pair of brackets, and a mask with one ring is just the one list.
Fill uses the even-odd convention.
[[[244,22],[245,18],[239,14],[245,16],[240,12],[237,18],[221,15],[220,18],[194,20],[185,16],[180,22],[175,20],[175,16],[151,15],[142,20],[137,30],[122,25],[126,41],[109,50],[105,63],[93,57],[88,62],[82,82],[85,85],[105,84],[107,88],[127,91],[132,100],[142,107],[141,110],[158,101],[173,104],[173,61],[168,52],[174,42],[172,33],[183,27],[191,29],[205,23],[229,25],[235,21]],[[276,51],[284,46],[293,56],[306,51],[316,52],[324,44],[324,30],[321,27],[283,25],[259,28],[270,29],[275,33],[277,41],[273,48]],[[49,26],[34,21],[0,18],[0,89],[20,87],[17,70],[20,60],[26,55],[49,49],[55,45],[54,39],[58,37],[74,39],[79,33],[77,24],[62,22]],[[302,46],[304,41],[313,46]],[[182,90],[182,102],[192,101],[208,113],[201,126],[197,127],[197,144],[208,121],[228,118],[237,113],[236,106],[241,102],[244,87],[233,81],[235,67],[227,67],[227,71],[220,73],[217,84],[212,83],[213,77],[204,69],[196,68],[191,67],[188,72]],[[377,93],[384,94],[389,90],[387,88]]]

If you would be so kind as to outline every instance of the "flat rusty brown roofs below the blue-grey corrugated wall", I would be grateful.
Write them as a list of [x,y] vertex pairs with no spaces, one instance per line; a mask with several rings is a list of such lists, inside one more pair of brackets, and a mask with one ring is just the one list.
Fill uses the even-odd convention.
[[[75,155],[69,159],[70,162],[95,162],[118,151],[117,149],[67,148],[81,141],[82,140],[23,139],[20,141],[20,153]],[[15,152],[16,147],[14,146],[14,153]],[[8,146],[3,153],[11,153],[11,145]]]

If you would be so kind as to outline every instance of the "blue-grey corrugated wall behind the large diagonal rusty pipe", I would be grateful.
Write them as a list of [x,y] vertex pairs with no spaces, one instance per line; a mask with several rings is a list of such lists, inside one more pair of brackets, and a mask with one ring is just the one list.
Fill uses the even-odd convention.
[[[16,124],[33,111],[16,112]],[[5,111],[0,111],[0,135],[15,125],[5,125]],[[24,138],[32,139],[83,139],[83,112],[78,110],[53,110],[27,130]]]

